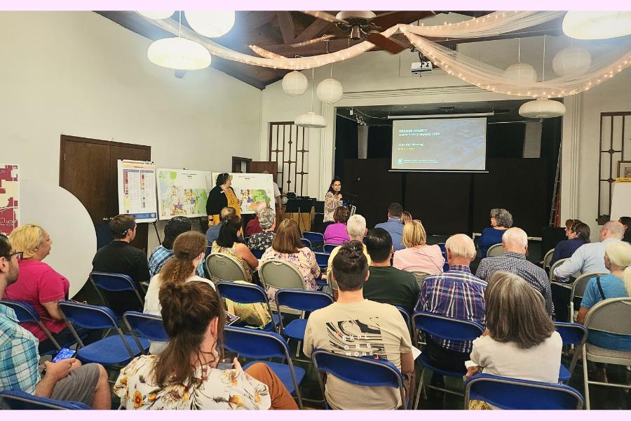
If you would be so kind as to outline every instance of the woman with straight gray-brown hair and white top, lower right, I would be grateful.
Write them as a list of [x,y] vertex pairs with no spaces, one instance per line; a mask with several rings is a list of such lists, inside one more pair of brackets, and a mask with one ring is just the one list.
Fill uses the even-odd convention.
[[[557,383],[563,341],[541,295],[520,276],[495,272],[484,299],[487,330],[473,341],[471,361],[477,366],[468,369],[467,377],[482,368],[486,374]],[[469,408],[485,405],[474,401]]]

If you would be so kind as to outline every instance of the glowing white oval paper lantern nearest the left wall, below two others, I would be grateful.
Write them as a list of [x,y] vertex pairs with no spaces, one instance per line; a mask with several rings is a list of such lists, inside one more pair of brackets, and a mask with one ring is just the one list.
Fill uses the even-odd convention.
[[162,67],[198,70],[210,66],[210,52],[201,44],[184,38],[163,38],[147,50],[149,60]]

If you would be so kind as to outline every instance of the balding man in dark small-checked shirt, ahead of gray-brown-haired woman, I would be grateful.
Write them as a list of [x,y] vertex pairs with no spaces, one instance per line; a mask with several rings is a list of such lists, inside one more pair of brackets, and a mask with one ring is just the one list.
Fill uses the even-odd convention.
[[503,255],[482,259],[475,276],[486,282],[489,282],[498,270],[521,276],[543,295],[548,314],[554,314],[555,305],[552,304],[550,279],[545,270],[526,259],[528,236],[524,230],[517,227],[506,229],[502,236],[502,247]]

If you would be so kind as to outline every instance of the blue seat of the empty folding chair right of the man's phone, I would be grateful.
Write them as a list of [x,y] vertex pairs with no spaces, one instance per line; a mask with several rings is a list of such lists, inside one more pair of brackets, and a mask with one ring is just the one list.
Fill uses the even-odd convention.
[[[149,349],[149,340],[144,338],[139,339],[140,344],[144,348],[143,351]],[[134,356],[139,356],[140,349],[138,349],[133,336],[125,335],[125,340],[127,340]],[[132,360],[127,347],[125,347],[123,340],[118,335],[108,336],[107,338],[79,349],[79,351],[76,352],[76,358],[83,364],[100,363],[102,366],[127,364]]]

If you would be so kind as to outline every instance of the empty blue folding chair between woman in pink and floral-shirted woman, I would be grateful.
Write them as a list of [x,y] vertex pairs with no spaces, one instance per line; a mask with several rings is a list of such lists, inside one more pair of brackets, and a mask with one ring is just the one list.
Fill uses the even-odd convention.
[[[149,348],[148,340],[141,338],[142,347],[139,348],[133,341],[132,335],[123,335],[116,315],[107,307],[62,301],[57,303],[57,308],[66,321],[72,322],[67,325],[78,344],[76,358],[83,364],[124,366]],[[76,335],[73,324],[87,329],[114,329],[118,335],[108,336],[84,346],[81,338]]]

